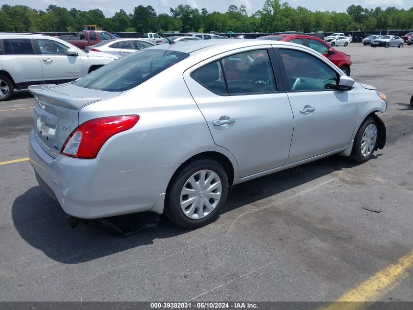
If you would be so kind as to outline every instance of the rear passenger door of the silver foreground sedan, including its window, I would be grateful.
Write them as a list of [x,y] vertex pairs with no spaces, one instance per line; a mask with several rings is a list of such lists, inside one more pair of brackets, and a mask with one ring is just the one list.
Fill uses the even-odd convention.
[[288,158],[294,119],[268,48],[226,52],[184,72],[214,142],[234,155],[240,177]]

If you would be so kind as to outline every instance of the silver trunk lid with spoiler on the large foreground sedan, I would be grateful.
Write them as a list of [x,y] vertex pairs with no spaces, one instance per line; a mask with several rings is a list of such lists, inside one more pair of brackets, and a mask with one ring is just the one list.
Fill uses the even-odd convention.
[[104,92],[75,86],[62,85],[29,86],[36,100],[34,106],[34,129],[36,139],[43,149],[56,157],[67,137],[79,125],[79,110],[89,103],[109,99],[120,92]]

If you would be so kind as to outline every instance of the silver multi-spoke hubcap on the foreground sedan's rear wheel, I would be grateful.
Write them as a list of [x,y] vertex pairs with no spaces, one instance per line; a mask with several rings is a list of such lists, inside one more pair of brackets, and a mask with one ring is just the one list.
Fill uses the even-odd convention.
[[200,170],[185,182],[181,191],[181,210],[191,219],[209,215],[221,198],[221,179],[212,170]]

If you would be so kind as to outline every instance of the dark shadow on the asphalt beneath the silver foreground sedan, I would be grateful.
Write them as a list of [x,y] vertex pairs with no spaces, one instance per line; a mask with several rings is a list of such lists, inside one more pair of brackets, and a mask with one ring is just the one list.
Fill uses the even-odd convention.
[[[377,157],[374,155],[371,159]],[[356,164],[347,158],[335,155],[239,184],[230,189],[227,203],[220,214],[288,191],[336,170],[354,166]],[[110,235],[96,223],[77,225],[72,229],[67,224],[66,214],[60,205],[39,186],[27,190],[15,199],[12,219],[16,230],[28,244],[41,250],[52,260],[67,264],[92,261],[130,248],[152,244],[155,239],[171,238],[188,232],[175,226],[163,215],[154,221],[154,216],[148,216],[148,213],[105,219],[115,225],[123,225],[123,229],[130,227],[139,232],[129,238]]]

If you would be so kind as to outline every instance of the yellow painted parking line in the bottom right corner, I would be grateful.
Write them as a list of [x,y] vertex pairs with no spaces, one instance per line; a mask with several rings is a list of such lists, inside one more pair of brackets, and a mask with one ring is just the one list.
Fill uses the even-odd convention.
[[[401,257],[397,262],[380,270],[370,279],[364,281],[362,284],[354,289],[349,290],[337,302],[352,302],[342,305],[340,309],[355,310],[363,307],[360,303],[353,302],[370,302],[374,301],[379,295],[385,293],[389,288],[396,284],[405,276],[406,270],[413,266],[413,250],[407,255]],[[386,290],[386,291],[385,291]],[[332,303],[330,306],[323,308],[323,310],[337,309],[337,304]]]

